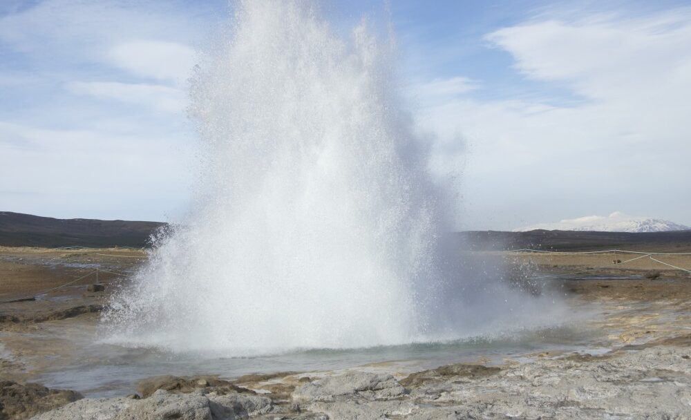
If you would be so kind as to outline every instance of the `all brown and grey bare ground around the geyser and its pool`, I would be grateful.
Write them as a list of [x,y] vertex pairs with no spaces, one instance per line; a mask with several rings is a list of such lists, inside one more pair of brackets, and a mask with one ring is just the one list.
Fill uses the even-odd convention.
[[[44,290],[96,267],[126,274],[145,254],[2,249],[0,257],[0,300],[37,298],[0,306],[0,418],[691,419],[691,278],[664,269],[656,279],[645,278],[659,268],[647,262],[545,280],[569,305],[598,308],[600,316],[586,325],[602,332],[591,350],[527,352],[432,369],[374,363],[239,377],[211,370],[144,379],[128,396],[82,398],[30,383],[56,365],[75,363],[73,337],[97,329],[97,312],[123,280],[100,274],[103,292],[86,292],[90,278],[73,288]],[[506,258],[545,276],[607,262]]]

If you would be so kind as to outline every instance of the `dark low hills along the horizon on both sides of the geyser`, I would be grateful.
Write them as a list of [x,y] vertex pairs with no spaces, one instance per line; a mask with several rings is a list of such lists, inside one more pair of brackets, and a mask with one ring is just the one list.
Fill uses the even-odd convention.
[[[590,249],[669,249],[673,252],[691,251],[691,230],[681,225],[645,224],[638,220],[636,229],[668,229],[668,231],[587,231],[582,224],[571,230],[530,231],[465,231],[465,247],[471,250],[501,250],[518,248],[590,250]],[[132,222],[127,220],[55,219],[30,214],[0,211],[0,246],[8,247],[149,247],[149,238],[162,222]],[[631,225],[634,227],[634,225]],[[670,229],[670,227],[674,229]],[[601,227],[600,227],[601,228]],[[685,228],[685,229],[680,229]],[[594,229],[591,229],[594,230]]]

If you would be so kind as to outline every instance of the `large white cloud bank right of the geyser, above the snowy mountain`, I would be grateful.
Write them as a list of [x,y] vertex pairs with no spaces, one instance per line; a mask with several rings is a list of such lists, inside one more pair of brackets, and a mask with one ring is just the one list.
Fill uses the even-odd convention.
[[422,126],[468,141],[469,225],[607,207],[691,222],[679,205],[691,179],[691,9],[531,21],[488,39],[527,77],[580,100],[542,90],[538,99],[460,95],[424,108]]

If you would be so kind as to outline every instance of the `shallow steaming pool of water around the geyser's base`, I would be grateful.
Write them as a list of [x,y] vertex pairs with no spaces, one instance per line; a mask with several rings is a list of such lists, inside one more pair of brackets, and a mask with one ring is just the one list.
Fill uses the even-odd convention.
[[[58,327],[59,328],[59,327]],[[524,354],[564,350],[596,354],[603,336],[577,323],[514,332],[494,338],[475,337],[447,343],[417,343],[349,350],[294,350],[256,357],[227,357],[198,352],[133,349],[93,341],[93,327],[65,327],[70,334],[62,350],[69,355],[53,364],[37,381],[50,388],[82,392],[86,397],[119,397],[136,392],[136,383],[157,375],[218,375],[221,379],[250,373],[319,372],[357,368],[407,374],[447,363],[520,361]],[[69,350],[68,350],[69,347]],[[601,347],[602,351],[609,350]]]

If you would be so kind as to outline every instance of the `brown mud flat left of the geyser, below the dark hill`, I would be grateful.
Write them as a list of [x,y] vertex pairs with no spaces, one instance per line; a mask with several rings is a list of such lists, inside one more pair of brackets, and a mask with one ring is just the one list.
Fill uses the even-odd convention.
[[[0,379],[33,381],[72,360],[75,336],[93,334],[108,294],[145,258],[136,249],[0,247]],[[97,281],[103,290],[90,292]]]

